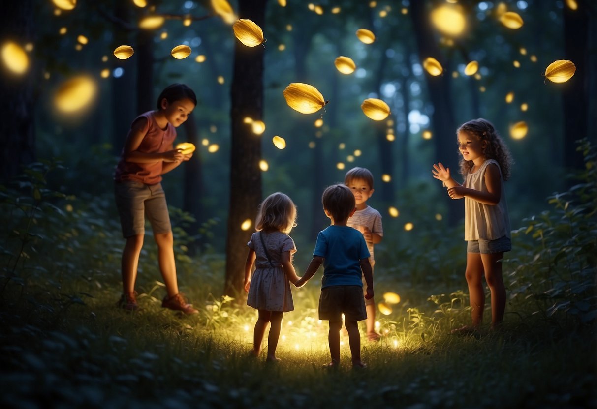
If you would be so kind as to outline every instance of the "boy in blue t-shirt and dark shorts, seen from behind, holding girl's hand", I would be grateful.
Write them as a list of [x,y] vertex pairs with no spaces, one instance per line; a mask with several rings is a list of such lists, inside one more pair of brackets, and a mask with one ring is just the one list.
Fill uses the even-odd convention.
[[369,250],[363,235],[348,227],[346,222],[355,212],[355,196],[345,185],[332,185],[322,196],[324,212],[332,224],[320,231],[313,251],[313,259],[303,277],[295,284],[303,286],[324,265],[319,296],[319,319],[330,321],[331,362],[324,367],[335,368],[340,364],[340,330],[342,314],[348,332],[353,367],[367,366],[361,361],[361,333],[358,321],[367,318],[362,292],[361,276],[367,283],[366,299],[373,298],[373,274],[369,263]]

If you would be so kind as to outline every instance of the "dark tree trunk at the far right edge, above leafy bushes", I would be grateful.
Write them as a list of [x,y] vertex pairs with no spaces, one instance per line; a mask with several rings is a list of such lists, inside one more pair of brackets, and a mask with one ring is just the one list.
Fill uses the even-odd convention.
[[[588,1],[588,0],[587,0]],[[589,106],[589,6],[578,1],[578,10],[564,7],[565,59],[576,65],[576,73],[561,84],[564,107],[564,169],[583,169],[583,156],[576,151],[576,140],[588,137]],[[573,180],[568,184],[574,184]]]

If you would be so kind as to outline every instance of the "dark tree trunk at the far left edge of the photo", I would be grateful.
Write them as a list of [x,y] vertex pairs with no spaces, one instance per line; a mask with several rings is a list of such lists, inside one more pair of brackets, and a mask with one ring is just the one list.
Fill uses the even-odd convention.
[[[32,0],[11,1],[2,5],[0,38],[10,39],[21,47],[33,43]],[[27,72],[16,76],[0,72],[0,112],[2,171],[0,182],[7,182],[18,173],[21,166],[33,162],[35,153],[35,126],[33,120],[33,69],[35,61],[29,61]]]

